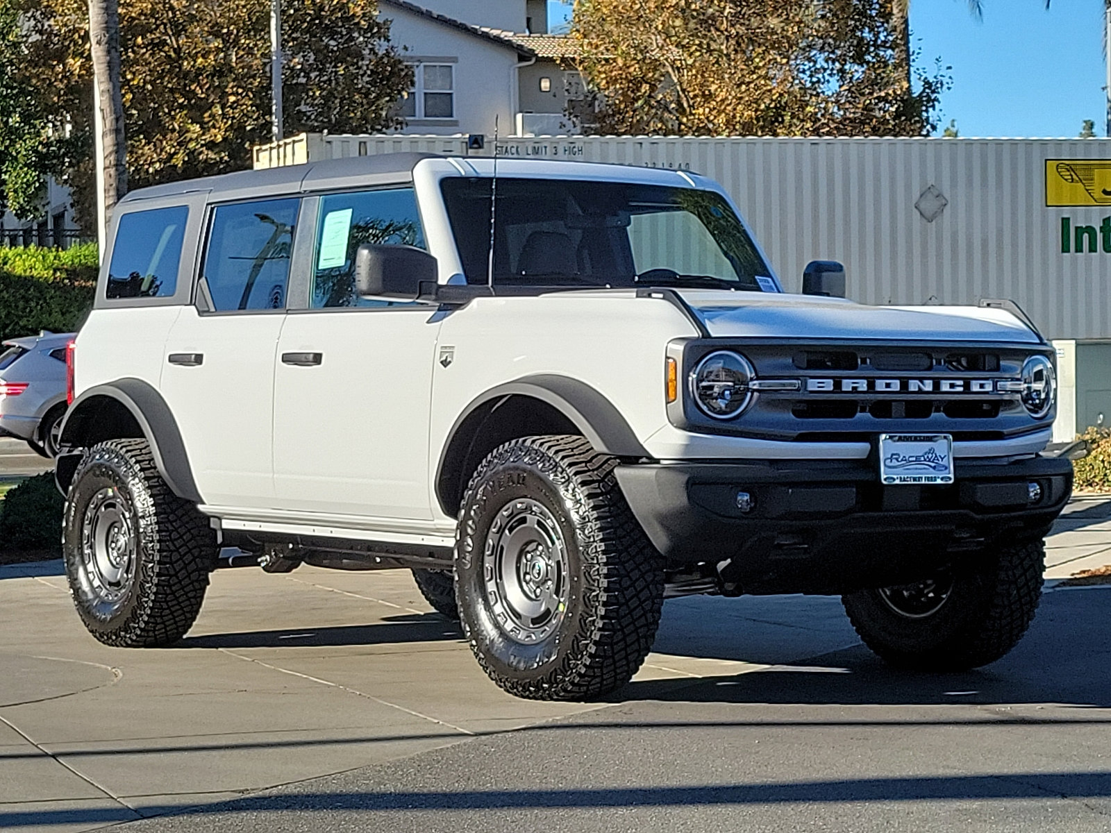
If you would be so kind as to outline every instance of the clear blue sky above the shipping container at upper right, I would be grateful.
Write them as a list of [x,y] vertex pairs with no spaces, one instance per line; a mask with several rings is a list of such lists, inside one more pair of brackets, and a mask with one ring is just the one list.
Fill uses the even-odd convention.
[[[1074,137],[1084,119],[1103,136],[1102,0],[983,0],[983,22],[965,0],[913,0],[921,60],[952,67],[940,124],[967,137]],[[552,22],[570,3],[550,2]],[[940,132],[940,128],[939,128]]]

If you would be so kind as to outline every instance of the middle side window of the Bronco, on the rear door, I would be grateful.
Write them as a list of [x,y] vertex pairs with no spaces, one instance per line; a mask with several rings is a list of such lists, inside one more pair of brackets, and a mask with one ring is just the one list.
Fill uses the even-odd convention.
[[217,207],[202,274],[217,311],[286,308],[299,199]]

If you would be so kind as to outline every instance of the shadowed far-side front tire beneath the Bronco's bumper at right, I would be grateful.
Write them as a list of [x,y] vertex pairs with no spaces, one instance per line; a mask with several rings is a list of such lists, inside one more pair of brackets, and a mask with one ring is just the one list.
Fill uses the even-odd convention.
[[910,619],[878,590],[842,598],[860,639],[888,663],[915,671],[967,671],[994,662],[1027,632],[1041,600],[1041,541],[983,553],[953,572],[949,598],[932,614]]

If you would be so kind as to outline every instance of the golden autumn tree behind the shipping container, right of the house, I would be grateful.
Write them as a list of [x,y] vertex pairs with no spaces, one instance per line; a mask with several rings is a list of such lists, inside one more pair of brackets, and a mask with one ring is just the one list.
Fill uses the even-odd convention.
[[949,84],[892,0],[580,0],[572,36],[600,132],[920,136]]

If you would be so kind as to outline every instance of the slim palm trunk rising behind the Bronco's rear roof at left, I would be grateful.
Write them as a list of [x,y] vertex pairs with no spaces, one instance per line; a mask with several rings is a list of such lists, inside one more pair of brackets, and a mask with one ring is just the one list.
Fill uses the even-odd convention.
[[[118,0],[89,0],[89,43],[100,116],[100,159],[103,172],[103,223],[128,190],[123,137],[123,96],[120,90],[120,10]],[[100,230],[103,233],[104,229]]]

